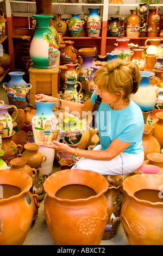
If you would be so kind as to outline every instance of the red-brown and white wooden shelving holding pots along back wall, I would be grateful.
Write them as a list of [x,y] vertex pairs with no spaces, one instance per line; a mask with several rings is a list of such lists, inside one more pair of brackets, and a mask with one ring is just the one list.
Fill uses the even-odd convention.
[[[0,0],[3,1],[3,0]],[[58,0],[58,1],[64,1],[64,0]],[[83,0],[86,1],[86,0]],[[125,1],[125,0],[124,0]],[[98,8],[100,9],[100,14],[99,16],[102,16],[103,21],[102,21],[102,31],[101,31],[101,36],[98,38],[89,38],[88,36],[80,36],[79,38],[72,38],[71,36],[63,36],[64,40],[72,40],[74,41],[74,47],[78,46],[78,47],[89,47],[90,45],[92,47],[98,46],[98,54],[101,55],[105,55],[106,52],[109,52],[110,49],[114,50],[112,48],[112,46],[114,46],[116,39],[117,38],[110,38],[107,36],[107,26],[108,26],[108,19],[111,16],[117,16],[116,15],[116,11],[115,14],[111,14],[111,8],[114,7],[114,9],[123,9],[123,13],[124,10],[126,11],[127,8],[134,8],[136,9],[136,7],[138,6],[137,3],[123,3],[123,4],[109,4],[110,0],[103,0],[102,3],[100,4],[91,4],[91,3],[86,3],[86,2],[82,2],[82,3],[69,3],[69,2],[57,2],[57,3],[52,3],[52,13],[53,15],[55,13],[57,13],[57,8],[55,8],[55,13],[53,11],[54,7],[60,7],[60,8],[64,8],[64,10],[66,8],[69,7],[76,7],[76,8]],[[127,2],[131,2],[131,1],[127,1]],[[136,2],[136,0],[135,0]],[[154,2],[154,0],[153,0]],[[14,70],[14,40],[18,40],[21,39],[23,35],[30,35],[30,33],[32,32],[32,27],[30,27],[30,23],[31,23],[31,17],[32,15],[35,13],[36,11],[36,3],[35,2],[29,2],[29,1],[16,1],[16,0],[5,0],[5,5],[6,5],[6,12],[7,12],[7,27],[8,27],[8,42],[9,42],[9,55],[12,59],[11,62],[11,66],[10,69],[11,71]],[[14,8],[13,8],[14,5]],[[23,12],[21,8],[19,8],[19,10],[16,10],[16,7],[18,7],[19,5],[21,6],[25,6],[26,5],[26,11]],[[155,8],[158,4],[154,3],[154,4],[150,4],[149,7]],[[16,7],[15,7],[16,6]],[[108,8],[106,8],[108,7]],[[159,4],[160,7],[160,14],[163,14],[163,4]],[[64,19],[68,19],[68,15],[70,16],[70,12],[68,14],[64,13],[65,18]],[[82,17],[80,17],[80,19],[84,19],[84,16],[86,16],[86,14],[82,13],[81,15]],[[126,16],[129,16],[128,14]],[[13,22],[13,17],[27,17],[28,18],[28,27],[26,28],[15,28],[14,27],[14,22]],[[148,38],[130,38],[130,42],[135,42],[135,44],[137,44],[137,42],[145,42],[145,40]],[[81,48],[80,47],[80,48]],[[77,49],[78,50],[78,49]]]

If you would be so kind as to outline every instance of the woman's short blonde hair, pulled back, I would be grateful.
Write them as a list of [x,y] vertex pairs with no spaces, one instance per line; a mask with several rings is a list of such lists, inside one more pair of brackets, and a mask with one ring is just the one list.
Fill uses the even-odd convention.
[[141,75],[136,63],[127,59],[114,59],[96,71],[93,82],[99,90],[113,95],[121,95],[128,100],[130,94],[137,92]]

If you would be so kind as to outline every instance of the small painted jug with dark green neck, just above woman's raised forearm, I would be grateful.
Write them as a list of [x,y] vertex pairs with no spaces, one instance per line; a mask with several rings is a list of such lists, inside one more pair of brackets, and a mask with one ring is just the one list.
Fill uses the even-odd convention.
[[[78,102],[78,100],[82,100],[83,94],[80,94],[82,91],[82,84],[80,82],[74,82],[74,81],[67,81],[66,83],[66,89],[63,94],[61,94],[61,99],[68,100],[68,101],[74,101]],[[77,91],[77,87],[79,88],[79,92]]]

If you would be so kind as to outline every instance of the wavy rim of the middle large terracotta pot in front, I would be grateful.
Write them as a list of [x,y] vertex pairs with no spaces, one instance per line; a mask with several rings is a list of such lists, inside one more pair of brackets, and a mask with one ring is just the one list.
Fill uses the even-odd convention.
[[[80,182],[68,181],[67,174],[70,178],[71,177],[74,178],[75,174],[79,175],[78,181],[80,181]],[[84,178],[84,174],[89,174],[89,178]],[[59,185],[59,181],[55,180],[55,176],[57,177],[59,175],[62,175],[62,181],[64,179],[65,184],[63,184],[63,182],[60,181],[60,185]],[[97,186],[95,187],[95,186],[90,185],[90,182],[92,182],[92,184],[93,184],[93,176],[96,176],[96,179],[95,179],[95,177],[94,177],[94,179],[99,181],[99,186],[101,186],[101,184],[103,182],[103,187],[99,190],[99,192],[97,191],[99,189],[99,188],[97,188]],[[77,178],[76,178],[76,180],[77,180]],[[86,184],[87,181],[89,181],[89,184]],[[57,189],[55,189],[55,184],[59,185]],[[73,184],[79,184],[79,185],[85,185],[85,186],[91,187],[93,190],[95,190],[95,192],[97,194],[96,194],[96,196],[91,196],[88,198],[73,199],[73,200],[72,199],[62,199],[62,198],[58,198],[55,196],[55,194],[57,193],[57,191],[60,188],[66,186],[66,185],[73,185]],[[65,204],[69,204],[69,205],[70,204],[71,205],[80,204],[80,203],[84,203],[84,202],[88,203],[92,199],[97,199],[97,198],[101,197],[102,194],[104,194],[108,190],[108,187],[109,187],[108,181],[106,181],[106,179],[101,174],[95,173],[91,170],[80,170],[80,169],[60,170],[60,172],[53,173],[51,176],[49,176],[43,183],[43,188],[49,197],[57,200],[60,203],[65,203]]]

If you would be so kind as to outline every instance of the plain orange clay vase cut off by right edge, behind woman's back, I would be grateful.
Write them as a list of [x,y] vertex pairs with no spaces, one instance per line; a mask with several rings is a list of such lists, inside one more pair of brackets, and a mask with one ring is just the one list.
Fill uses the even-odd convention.
[[163,141],[163,112],[158,112],[155,114],[157,118],[159,118],[158,121],[154,123],[154,131],[153,136],[156,138],[156,140],[160,144],[160,148],[163,148],[162,141]]

